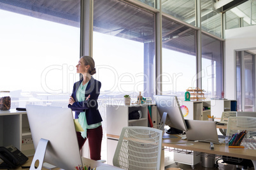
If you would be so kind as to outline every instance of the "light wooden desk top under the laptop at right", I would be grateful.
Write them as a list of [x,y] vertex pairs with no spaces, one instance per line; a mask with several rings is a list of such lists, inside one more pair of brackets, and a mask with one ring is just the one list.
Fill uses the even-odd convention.
[[162,145],[165,147],[194,150],[196,152],[204,152],[207,154],[226,155],[230,157],[256,160],[256,150],[246,148],[228,148],[225,147],[225,143],[221,145],[214,144],[214,150],[210,150],[210,143],[181,140],[180,136],[177,137],[178,138],[163,139]]

